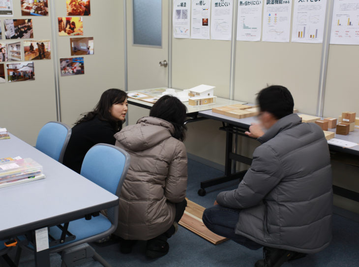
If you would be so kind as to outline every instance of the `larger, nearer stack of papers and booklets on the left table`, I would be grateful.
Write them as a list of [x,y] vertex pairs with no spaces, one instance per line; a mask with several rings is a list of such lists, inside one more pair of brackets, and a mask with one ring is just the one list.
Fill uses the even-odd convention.
[[42,178],[45,178],[42,173],[42,166],[30,158],[0,163],[0,187]]

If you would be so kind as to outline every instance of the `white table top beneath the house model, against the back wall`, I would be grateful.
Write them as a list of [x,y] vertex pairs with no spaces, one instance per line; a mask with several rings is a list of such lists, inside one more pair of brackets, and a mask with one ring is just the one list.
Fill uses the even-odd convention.
[[[142,90],[128,91],[126,93],[139,92],[139,93],[145,93],[145,94],[153,96],[153,97],[158,97],[161,95],[160,93],[152,93],[156,89],[170,89],[170,88],[160,87],[160,88],[142,89]],[[178,91],[182,91],[182,90],[176,89],[176,91],[178,92]],[[140,106],[148,108],[148,109],[150,109],[151,106],[153,105],[153,103],[146,102],[143,100],[138,100],[138,99],[132,99],[132,98],[128,98],[127,101],[130,104],[140,105]],[[216,98],[216,103],[210,104],[210,105],[202,105],[202,106],[193,107],[188,104],[188,101],[183,102],[183,104],[187,107],[187,114],[197,113],[197,112],[203,111],[203,110],[209,110],[209,109],[212,109],[213,107],[219,107],[219,106],[224,106],[224,105],[233,105],[233,104],[245,104],[245,103],[246,102],[237,101],[237,100],[229,100],[229,99],[218,98],[218,97]]]

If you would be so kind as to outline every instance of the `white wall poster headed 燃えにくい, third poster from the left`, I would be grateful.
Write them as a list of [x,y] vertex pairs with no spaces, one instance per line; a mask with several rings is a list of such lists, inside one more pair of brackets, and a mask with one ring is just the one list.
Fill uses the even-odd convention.
[[233,0],[212,0],[210,11],[210,38],[214,40],[231,40]]

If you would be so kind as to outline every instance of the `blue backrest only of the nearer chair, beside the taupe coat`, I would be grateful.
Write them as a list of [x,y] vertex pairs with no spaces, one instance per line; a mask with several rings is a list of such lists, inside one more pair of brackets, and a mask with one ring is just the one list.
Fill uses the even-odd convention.
[[86,153],[81,175],[114,195],[120,189],[130,165],[130,156],[123,149],[109,144],[97,144]]

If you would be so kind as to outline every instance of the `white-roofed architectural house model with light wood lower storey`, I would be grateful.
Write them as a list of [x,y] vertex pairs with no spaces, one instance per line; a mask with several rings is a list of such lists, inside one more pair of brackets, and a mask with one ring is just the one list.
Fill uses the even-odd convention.
[[215,104],[216,97],[213,96],[214,86],[201,84],[189,89],[188,104],[191,106],[202,106]]

